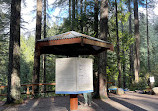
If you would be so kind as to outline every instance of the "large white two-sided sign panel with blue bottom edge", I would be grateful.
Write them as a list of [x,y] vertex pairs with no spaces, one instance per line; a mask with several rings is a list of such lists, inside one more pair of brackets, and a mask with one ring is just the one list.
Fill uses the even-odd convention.
[[86,92],[93,92],[92,59],[56,59],[56,94],[80,94]]

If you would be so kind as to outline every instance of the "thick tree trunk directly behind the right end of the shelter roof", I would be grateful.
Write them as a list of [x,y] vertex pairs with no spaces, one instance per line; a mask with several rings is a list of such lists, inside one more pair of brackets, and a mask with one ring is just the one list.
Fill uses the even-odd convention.
[[[100,39],[107,40],[108,34],[108,0],[101,1],[100,7]],[[99,96],[107,98],[107,51],[99,54]]]

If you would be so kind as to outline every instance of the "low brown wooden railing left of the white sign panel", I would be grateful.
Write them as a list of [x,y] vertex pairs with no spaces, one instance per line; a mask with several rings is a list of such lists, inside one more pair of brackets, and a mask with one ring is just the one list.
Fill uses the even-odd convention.
[[[22,92],[21,94],[27,94],[27,95],[34,95],[36,92],[34,92],[34,87],[35,86],[47,86],[47,85],[52,85],[55,86],[56,83],[35,83],[35,84],[21,84],[21,86],[26,86],[27,91]],[[7,86],[0,86],[0,96],[6,96],[7,94],[1,94],[2,90],[4,90]],[[30,87],[32,87],[32,90],[30,91]],[[40,93],[47,93],[47,92],[55,92],[55,91],[40,91]]]

